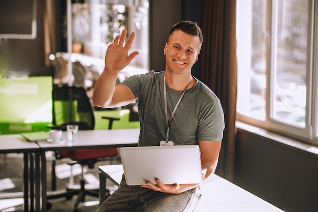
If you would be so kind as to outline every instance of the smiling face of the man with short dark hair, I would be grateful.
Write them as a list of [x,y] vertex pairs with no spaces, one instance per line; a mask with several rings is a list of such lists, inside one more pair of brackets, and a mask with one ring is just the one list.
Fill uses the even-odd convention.
[[192,66],[197,62],[200,53],[200,39],[183,33],[180,30],[174,31],[164,48],[166,55],[166,71],[183,73],[191,72]]

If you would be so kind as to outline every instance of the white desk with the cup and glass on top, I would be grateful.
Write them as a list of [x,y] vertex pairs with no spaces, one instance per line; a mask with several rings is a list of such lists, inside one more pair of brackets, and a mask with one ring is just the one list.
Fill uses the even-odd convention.
[[46,211],[46,151],[55,150],[73,150],[87,148],[112,148],[124,146],[137,146],[140,129],[116,129],[116,130],[87,130],[78,132],[78,140],[75,142],[67,141],[67,132],[63,132],[63,142],[48,143],[46,141],[38,141],[40,147],[41,167],[41,205],[42,211]]

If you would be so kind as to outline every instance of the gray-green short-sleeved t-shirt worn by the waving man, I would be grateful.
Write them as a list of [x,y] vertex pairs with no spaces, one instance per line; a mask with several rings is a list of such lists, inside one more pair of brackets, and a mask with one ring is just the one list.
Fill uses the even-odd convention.
[[[139,146],[158,146],[166,139],[164,76],[165,71],[133,75],[122,84],[136,98],[140,120]],[[223,137],[224,113],[219,99],[210,88],[196,79],[187,89],[171,122],[169,140],[174,145],[198,145],[198,140],[217,141]],[[182,92],[166,86],[168,120]]]

